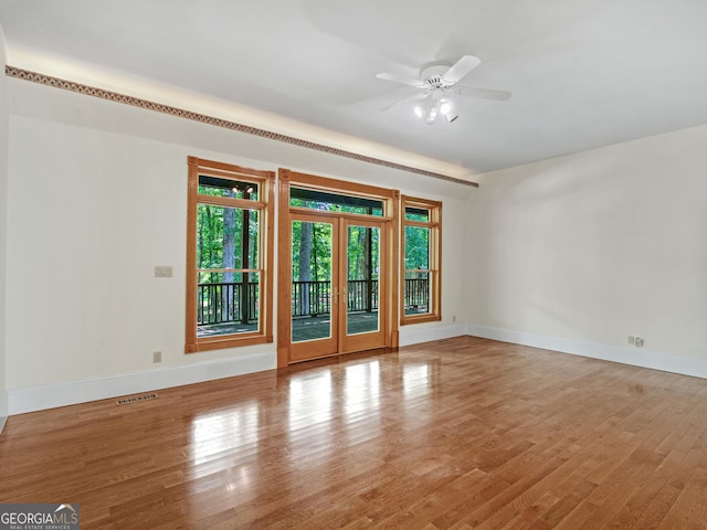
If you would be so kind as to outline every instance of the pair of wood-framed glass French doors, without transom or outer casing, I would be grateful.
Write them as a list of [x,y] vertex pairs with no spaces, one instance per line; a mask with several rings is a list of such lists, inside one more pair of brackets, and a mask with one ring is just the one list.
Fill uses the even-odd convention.
[[291,214],[289,362],[386,346],[387,223]]

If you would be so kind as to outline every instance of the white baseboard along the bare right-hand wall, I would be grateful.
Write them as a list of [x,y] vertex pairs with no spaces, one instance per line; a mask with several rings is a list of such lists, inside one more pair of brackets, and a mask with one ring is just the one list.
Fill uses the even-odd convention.
[[466,326],[466,335],[707,379],[706,359],[677,357],[646,348],[637,349],[629,346],[600,344],[473,324]]

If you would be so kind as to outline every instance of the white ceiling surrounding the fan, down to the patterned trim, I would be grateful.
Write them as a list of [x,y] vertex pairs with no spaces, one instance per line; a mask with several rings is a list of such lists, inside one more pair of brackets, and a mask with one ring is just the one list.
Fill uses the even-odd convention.
[[[80,61],[464,174],[707,124],[707,0],[0,0],[0,25],[9,64]],[[465,54],[461,84],[513,97],[453,124],[380,112],[415,88],[378,72]]]

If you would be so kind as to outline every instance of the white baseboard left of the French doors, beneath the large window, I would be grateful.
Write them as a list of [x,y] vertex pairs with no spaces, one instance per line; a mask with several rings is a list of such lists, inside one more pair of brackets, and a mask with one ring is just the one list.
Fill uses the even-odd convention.
[[202,383],[276,368],[275,353],[208,361],[183,367],[162,368],[109,378],[8,390],[9,415],[55,409],[89,401],[106,400],[140,392]]

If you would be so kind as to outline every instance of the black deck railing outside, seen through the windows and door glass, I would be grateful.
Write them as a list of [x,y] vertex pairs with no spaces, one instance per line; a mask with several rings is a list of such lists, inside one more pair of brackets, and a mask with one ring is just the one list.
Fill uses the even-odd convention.
[[[244,286],[246,288],[244,289]],[[252,322],[257,320],[258,284],[251,282],[199,284],[197,290],[197,324]],[[430,303],[428,278],[405,279],[405,308],[424,307]],[[348,282],[349,312],[378,309],[378,280]],[[293,282],[292,316],[317,317],[331,312],[330,282]]]

